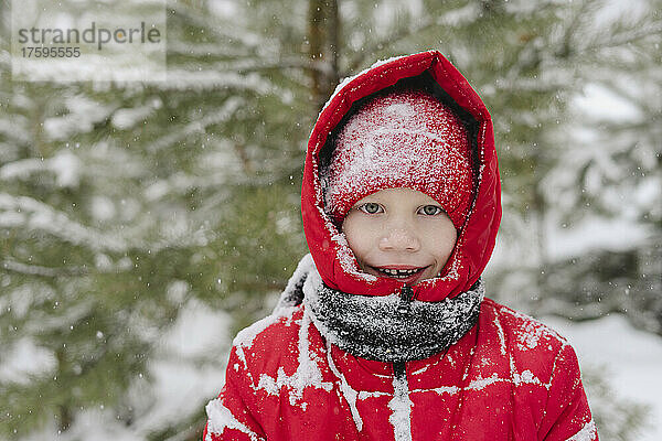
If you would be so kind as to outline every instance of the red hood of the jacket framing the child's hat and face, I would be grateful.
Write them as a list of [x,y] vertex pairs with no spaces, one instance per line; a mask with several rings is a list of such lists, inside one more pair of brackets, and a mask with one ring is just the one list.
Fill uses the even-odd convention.
[[478,182],[471,211],[458,235],[456,248],[442,277],[416,284],[415,298],[421,301],[440,301],[467,291],[479,279],[490,259],[501,220],[501,184],[492,120],[478,94],[455,66],[439,52],[429,51],[376,63],[361,74],[345,79],[338,86],[312,129],[301,190],[303,230],[317,269],[324,283],[331,288],[355,294],[387,295],[398,292],[403,283],[360,270],[344,235],[324,213],[319,180],[320,151],[329,133],[350,111],[353,103],[392,86],[399,79],[415,77],[426,71],[477,122],[478,154],[474,154],[474,161],[478,161]]

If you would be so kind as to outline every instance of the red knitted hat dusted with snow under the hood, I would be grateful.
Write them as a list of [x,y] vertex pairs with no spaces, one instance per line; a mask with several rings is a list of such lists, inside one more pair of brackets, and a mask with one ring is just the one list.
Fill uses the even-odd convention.
[[325,209],[340,225],[363,197],[408,187],[437,201],[459,230],[471,204],[470,154],[465,125],[433,95],[377,96],[337,135],[322,179]]

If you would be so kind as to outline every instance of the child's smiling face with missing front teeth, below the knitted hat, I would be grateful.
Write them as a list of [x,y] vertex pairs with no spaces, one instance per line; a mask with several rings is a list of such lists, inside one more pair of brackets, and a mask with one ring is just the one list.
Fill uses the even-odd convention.
[[410,189],[365,196],[350,209],[342,230],[363,271],[409,286],[438,276],[457,240],[439,203]]

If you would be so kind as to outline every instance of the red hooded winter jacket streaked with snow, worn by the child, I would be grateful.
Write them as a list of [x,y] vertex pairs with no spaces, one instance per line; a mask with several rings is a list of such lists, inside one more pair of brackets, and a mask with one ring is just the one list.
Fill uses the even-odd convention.
[[[371,348],[355,351],[345,338],[370,327],[373,309],[364,314],[365,323],[343,334],[333,332],[320,305],[342,301],[351,305],[351,315],[359,299],[378,316],[378,311],[388,313],[402,304],[405,291],[397,280],[361,272],[344,236],[324,213],[320,151],[353,103],[421,75],[471,120],[479,178],[446,276],[414,286],[409,299],[414,314],[439,308],[448,314],[439,320],[442,327],[458,320],[469,327],[450,332],[449,346],[431,356],[398,358],[408,337],[397,335],[401,346],[393,352],[386,346],[380,356],[357,356]],[[482,300],[479,279],[501,218],[492,123],[471,86],[438,52],[377,63],[338,87],[310,137],[301,209],[310,256],[274,314],[235,338],[226,384],[206,408],[205,440],[598,439],[568,343],[533,319]]]

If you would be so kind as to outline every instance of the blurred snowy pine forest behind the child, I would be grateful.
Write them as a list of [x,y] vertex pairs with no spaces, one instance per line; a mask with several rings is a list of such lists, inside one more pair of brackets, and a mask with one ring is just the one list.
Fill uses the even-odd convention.
[[[488,294],[662,335],[661,0],[169,1],[146,84],[12,80],[0,6],[0,439],[200,439],[232,336],[307,252],[321,106],[427,49],[494,119]],[[639,439],[647,408],[585,381],[601,439]]]

